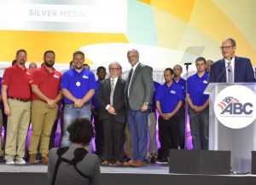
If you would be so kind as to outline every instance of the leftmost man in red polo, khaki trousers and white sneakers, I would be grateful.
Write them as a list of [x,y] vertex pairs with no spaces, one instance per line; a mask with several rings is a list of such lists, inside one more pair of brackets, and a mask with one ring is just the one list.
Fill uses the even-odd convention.
[[28,124],[31,114],[30,71],[26,68],[26,50],[16,52],[16,63],[3,74],[2,97],[8,116],[6,164],[26,164],[24,158]]

